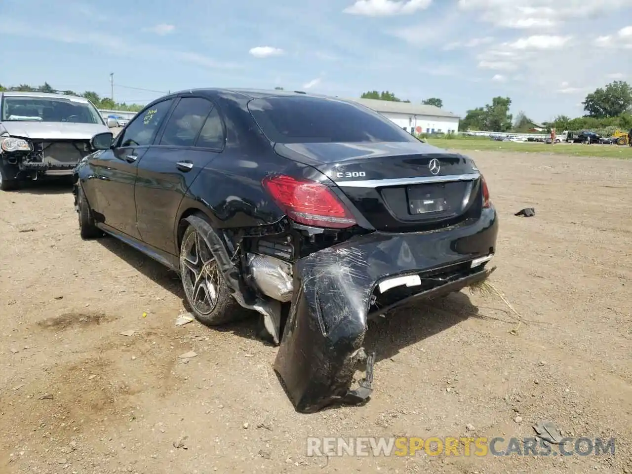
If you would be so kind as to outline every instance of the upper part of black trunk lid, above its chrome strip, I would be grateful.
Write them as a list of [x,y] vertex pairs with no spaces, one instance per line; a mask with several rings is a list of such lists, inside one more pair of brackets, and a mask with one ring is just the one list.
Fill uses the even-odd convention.
[[337,184],[344,181],[430,176],[428,164],[441,162],[441,175],[478,171],[463,155],[449,153],[428,143],[277,143],[277,154],[317,168]]

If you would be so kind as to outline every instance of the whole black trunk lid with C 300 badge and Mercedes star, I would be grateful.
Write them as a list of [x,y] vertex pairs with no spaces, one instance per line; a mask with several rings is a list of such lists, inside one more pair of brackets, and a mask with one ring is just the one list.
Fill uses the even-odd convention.
[[328,176],[381,231],[427,231],[480,217],[474,162],[427,143],[289,143],[276,151]]

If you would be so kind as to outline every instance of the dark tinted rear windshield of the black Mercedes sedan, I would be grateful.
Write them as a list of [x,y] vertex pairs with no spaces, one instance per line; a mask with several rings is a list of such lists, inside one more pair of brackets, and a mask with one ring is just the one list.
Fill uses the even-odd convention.
[[389,119],[362,106],[317,97],[268,97],[248,102],[266,137],[276,143],[415,142]]

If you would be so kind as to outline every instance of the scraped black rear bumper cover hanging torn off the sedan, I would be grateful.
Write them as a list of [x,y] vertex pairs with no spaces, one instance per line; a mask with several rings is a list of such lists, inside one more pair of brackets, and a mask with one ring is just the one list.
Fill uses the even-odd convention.
[[[362,344],[369,308],[380,281],[484,257],[494,252],[497,230],[492,208],[483,210],[481,219],[469,226],[432,233],[372,233],[301,258],[294,272],[292,309],[274,365],[296,410],[312,413],[335,401],[370,395],[367,380],[372,379],[372,356],[367,380],[360,387],[365,396],[349,392],[349,386],[356,365],[365,358]],[[420,289],[396,305],[459,291],[484,280],[490,272],[475,267],[465,275]]]

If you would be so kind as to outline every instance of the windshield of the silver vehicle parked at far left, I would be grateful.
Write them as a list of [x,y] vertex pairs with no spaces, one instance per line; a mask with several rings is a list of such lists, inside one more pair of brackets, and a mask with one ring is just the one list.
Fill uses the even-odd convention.
[[4,96],[2,121],[94,123],[103,125],[99,111],[89,102],[68,97]]

